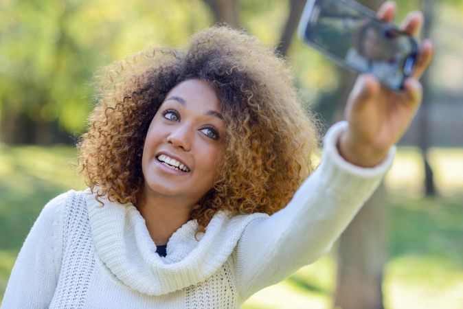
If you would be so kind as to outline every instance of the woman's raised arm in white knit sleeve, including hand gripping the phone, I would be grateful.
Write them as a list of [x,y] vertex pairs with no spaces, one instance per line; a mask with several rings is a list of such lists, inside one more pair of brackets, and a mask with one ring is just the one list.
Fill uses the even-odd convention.
[[[389,1],[378,15],[394,19]],[[411,35],[422,15],[412,12],[403,23]],[[421,100],[418,79],[431,60],[430,41],[422,44],[414,76],[405,91],[381,87],[370,74],[359,76],[346,106],[346,119],[328,131],[319,168],[297,190],[284,209],[253,220],[234,253],[242,300],[275,284],[326,253],[392,163],[394,144],[407,130]]]

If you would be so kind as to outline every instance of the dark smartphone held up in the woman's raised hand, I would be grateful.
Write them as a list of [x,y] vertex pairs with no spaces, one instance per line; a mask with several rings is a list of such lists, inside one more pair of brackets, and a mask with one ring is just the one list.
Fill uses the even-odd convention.
[[416,67],[416,40],[352,0],[308,0],[298,34],[339,65],[372,73],[394,91],[403,90]]

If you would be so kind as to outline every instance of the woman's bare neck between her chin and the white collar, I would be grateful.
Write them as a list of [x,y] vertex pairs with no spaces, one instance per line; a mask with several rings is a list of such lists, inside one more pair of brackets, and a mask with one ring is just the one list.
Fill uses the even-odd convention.
[[184,198],[142,193],[137,208],[145,219],[146,228],[156,245],[167,244],[170,236],[190,220],[194,203]]

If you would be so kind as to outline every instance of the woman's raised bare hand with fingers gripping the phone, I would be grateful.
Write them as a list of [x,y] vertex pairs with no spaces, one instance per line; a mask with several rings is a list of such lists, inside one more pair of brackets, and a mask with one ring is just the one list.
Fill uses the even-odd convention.
[[[377,17],[385,23],[391,23],[396,14],[396,5],[392,1],[383,3]],[[408,36],[416,36],[422,25],[420,12],[411,12],[400,26],[400,31]],[[372,73],[363,73],[357,79],[349,95],[345,115],[348,130],[339,137],[340,155],[363,167],[372,167],[383,161],[389,148],[403,136],[422,97],[419,78],[431,62],[433,45],[425,40],[418,48],[414,70],[402,84],[398,92],[383,87]]]

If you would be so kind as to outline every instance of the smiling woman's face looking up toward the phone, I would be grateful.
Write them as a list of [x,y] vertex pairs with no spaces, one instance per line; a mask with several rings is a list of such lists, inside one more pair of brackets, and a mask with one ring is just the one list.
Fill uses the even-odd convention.
[[212,187],[225,124],[207,82],[172,88],[151,121],[143,148],[145,194],[199,201]]

